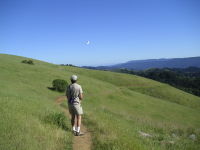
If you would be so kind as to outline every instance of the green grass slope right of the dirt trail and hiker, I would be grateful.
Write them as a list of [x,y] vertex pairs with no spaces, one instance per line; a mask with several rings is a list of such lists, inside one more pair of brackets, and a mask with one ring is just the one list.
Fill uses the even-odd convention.
[[[86,97],[86,123],[95,131],[95,149],[199,149],[188,139],[192,133],[199,137],[198,97],[138,76],[74,67],[60,69],[80,76]],[[156,90],[158,95],[150,96],[139,88]],[[194,104],[182,102],[185,96]],[[141,138],[139,131],[154,137]]]

